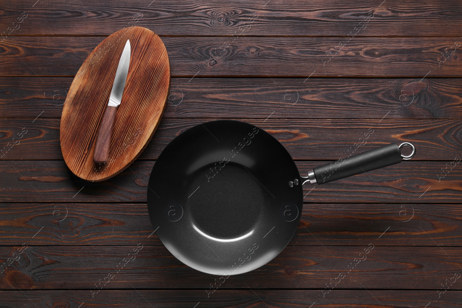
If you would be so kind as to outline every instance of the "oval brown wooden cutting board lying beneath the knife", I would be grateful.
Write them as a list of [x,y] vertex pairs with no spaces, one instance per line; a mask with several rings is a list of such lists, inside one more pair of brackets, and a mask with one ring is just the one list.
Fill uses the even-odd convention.
[[[99,122],[128,39],[130,67],[116,113],[109,159],[96,164],[93,152]],[[69,169],[81,179],[102,181],[127,168],[154,135],[164,113],[169,86],[167,50],[154,32],[128,27],[105,38],[80,67],[63,106],[60,142]]]

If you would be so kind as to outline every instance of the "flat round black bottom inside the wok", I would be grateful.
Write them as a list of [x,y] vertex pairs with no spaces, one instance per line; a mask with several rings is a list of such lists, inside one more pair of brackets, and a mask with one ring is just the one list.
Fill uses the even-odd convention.
[[[216,173],[207,182],[211,168]],[[233,241],[253,232],[271,197],[245,166],[233,162],[223,168],[215,164],[204,166],[186,186],[191,194],[185,205],[194,229],[222,241]],[[195,187],[197,190],[192,191]]]

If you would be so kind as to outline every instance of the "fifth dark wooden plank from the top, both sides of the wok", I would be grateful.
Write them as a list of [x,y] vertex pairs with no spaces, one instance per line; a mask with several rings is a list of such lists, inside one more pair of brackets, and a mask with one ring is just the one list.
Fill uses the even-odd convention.
[[[301,174],[319,161],[298,161]],[[447,165],[446,165],[447,164]],[[1,160],[2,202],[146,202],[154,161],[137,160],[116,177],[87,182],[68,171],[62,160]],[[304,186],[306,202],[460,203],[462,169],[445,161],[405,161],[331,183]],[[439,179],[438,179],[439,178]],[[85,187],[83,187],[85,186]],[[160,192],[157,192],[160,193]]]

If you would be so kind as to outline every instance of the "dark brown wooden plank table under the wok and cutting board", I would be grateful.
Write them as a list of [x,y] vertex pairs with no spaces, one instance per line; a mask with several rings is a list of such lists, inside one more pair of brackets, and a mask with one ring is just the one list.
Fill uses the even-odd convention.
[[[382,1],[2,1],[0,306],[460,307],[461,2]],[[90,51],[132,25],[168,50],[167,109],[130,168],[86,182],[62,160],[62,104]],[[297,237],[217,283],[153,233],[146,183],[175,136],[225,118],[267,130],[304,173],[389,142],[417,154],[305,187]]]

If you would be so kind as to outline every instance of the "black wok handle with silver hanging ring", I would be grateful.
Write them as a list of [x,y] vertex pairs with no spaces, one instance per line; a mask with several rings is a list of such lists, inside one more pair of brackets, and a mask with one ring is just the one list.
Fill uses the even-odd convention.
[[[411,148],[412,153],[407,156],[402,155],[401,148],[403,146]],[[313,171],[308,172],[308,177],[304,178],[308,179],[307,181],[311,184],[324,184],[359,173],[399,164],[401,159],[410,160],[414,154],[415,148],[411,143],[404,142],[398,146],[393,142],[380,148],[318,166]]]

